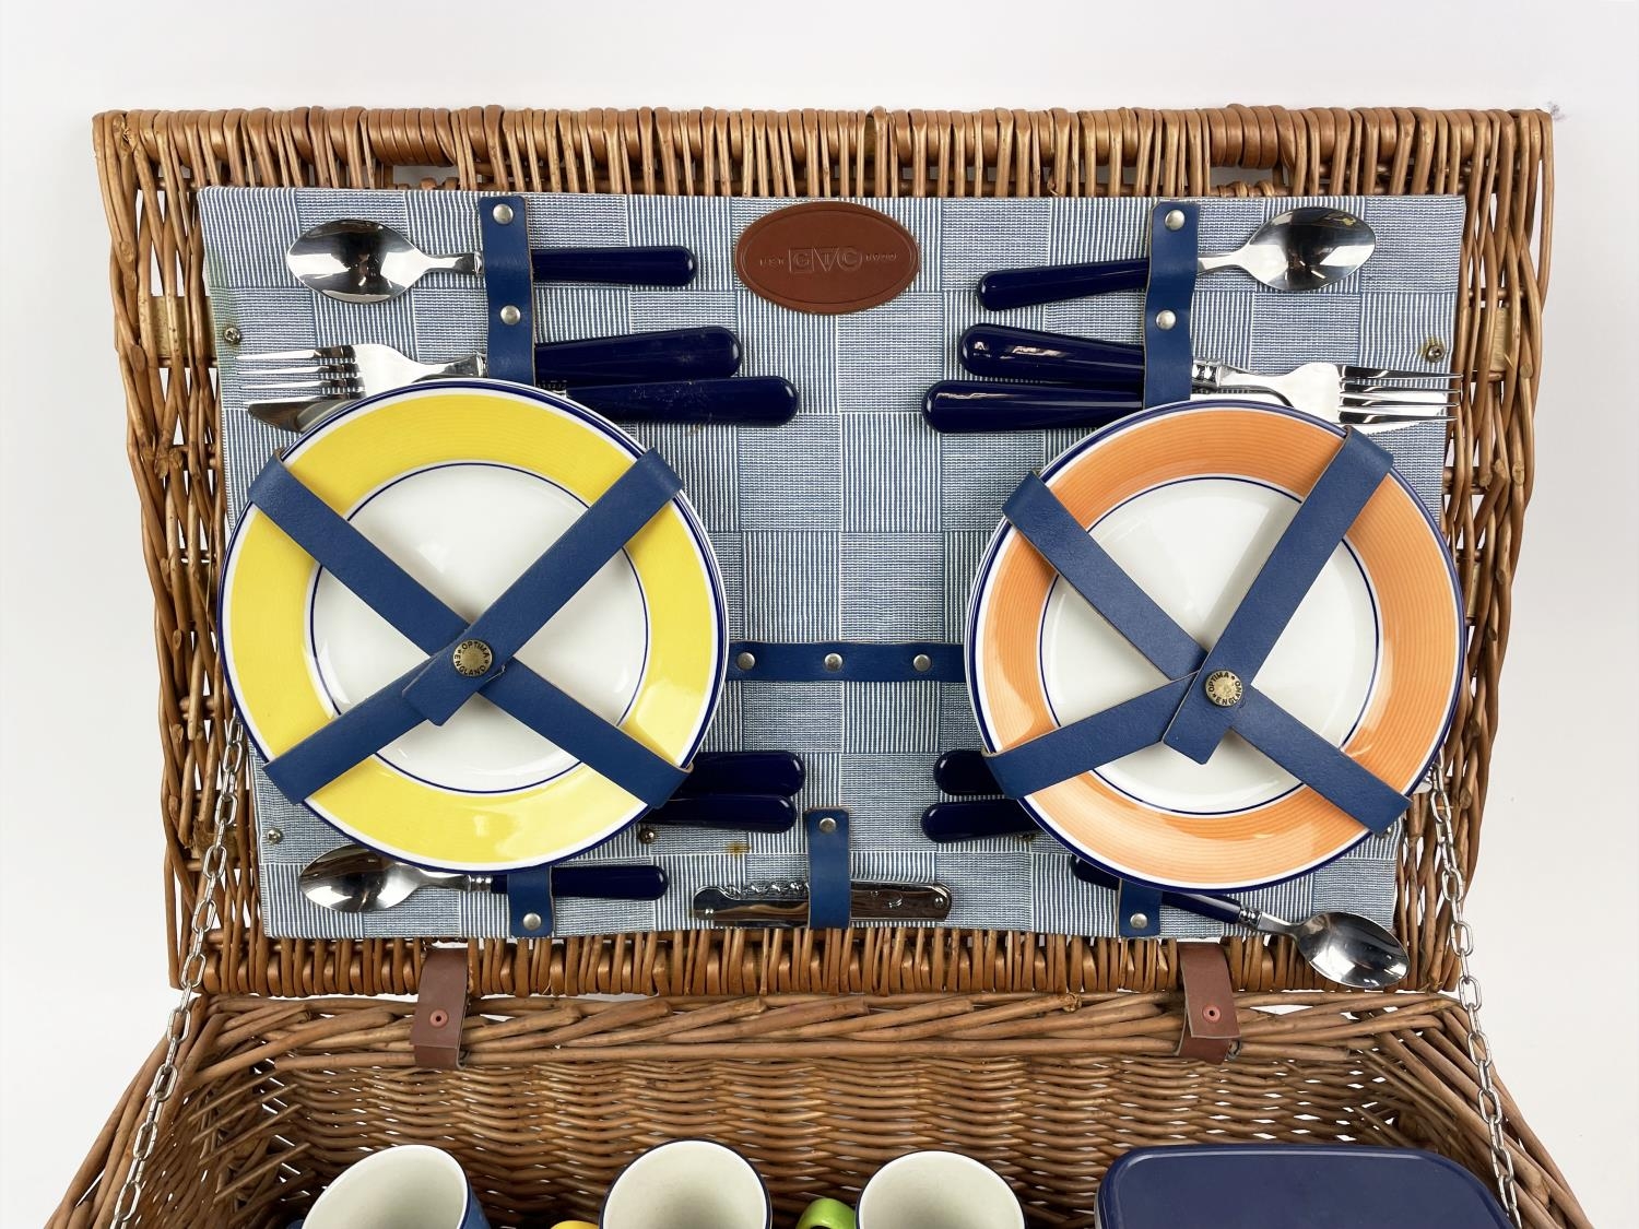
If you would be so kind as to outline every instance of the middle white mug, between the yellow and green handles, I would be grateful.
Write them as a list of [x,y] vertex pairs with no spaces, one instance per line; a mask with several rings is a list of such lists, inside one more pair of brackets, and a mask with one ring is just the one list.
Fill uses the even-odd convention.
[[772,1229],[774,1204],[751,1162],[706,1139],[649,1149],[615,1178],[602,1229]]

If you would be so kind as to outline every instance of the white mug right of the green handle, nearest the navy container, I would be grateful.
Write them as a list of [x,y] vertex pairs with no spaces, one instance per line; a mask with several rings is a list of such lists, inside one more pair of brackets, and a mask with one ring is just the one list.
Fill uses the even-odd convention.
[[859,1193],[859,1229],[1024,1229],[1006,1180],[960,1152],[910,1152]]

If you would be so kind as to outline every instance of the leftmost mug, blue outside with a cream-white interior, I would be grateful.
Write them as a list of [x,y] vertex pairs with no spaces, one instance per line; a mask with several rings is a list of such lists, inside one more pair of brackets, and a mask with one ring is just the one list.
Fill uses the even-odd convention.
[[490,1229],[452,1155],[426,1144],[372,1152],[344,1168],[290,1229]]

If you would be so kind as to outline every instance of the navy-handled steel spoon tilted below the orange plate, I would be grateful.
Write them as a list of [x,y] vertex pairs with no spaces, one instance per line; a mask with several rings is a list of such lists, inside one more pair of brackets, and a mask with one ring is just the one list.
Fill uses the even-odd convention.
[[[1118,887],[1106,870],[1082,862],[1074,864],[1078,880],[1103,888]],[[1288,923],[1233,896],[1208,896],[1195,891],[1162,891],[1162,905],[1228,923],[1246,926],[1260,934],[1283,934],[1298,947],[1298,955],[1310,962],[1316,973],[1337,985],[1359,990],[1383,990],[1406,975],[1410,960],[1405,946],[1370,918],[1357,913],[1316,913],[1300,923]]]

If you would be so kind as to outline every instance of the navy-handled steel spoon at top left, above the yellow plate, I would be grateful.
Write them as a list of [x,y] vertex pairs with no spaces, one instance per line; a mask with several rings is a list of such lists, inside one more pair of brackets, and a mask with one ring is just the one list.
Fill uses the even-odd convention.
[[[536,282],[687,285],[695,277],[695,254],[687,247],[538,247],[529,262]],[[390,226],[341,218],[305,231],[285,252],[285,265],[329,298],[385,303],[431,272],[482,274],[484,257],[428,256]]]

